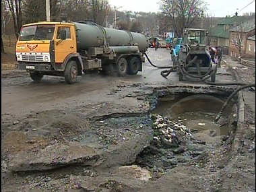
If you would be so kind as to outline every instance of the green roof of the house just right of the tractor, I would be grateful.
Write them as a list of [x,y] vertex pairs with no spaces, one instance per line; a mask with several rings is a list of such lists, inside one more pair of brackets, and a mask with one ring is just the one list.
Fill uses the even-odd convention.
[[210,29],[210,34],[213,37],[218,38],[229,38],[229,30],[230,28],[226,28],[226,26],[234,26],[240,22],[240,18],[234,15],[231,18],[224,18],[218,22],[217,26]]

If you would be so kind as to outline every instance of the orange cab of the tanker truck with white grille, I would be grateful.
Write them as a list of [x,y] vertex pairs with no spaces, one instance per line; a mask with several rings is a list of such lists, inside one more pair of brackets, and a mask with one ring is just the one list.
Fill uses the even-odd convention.
[[[63,75],[61,72],[64,71],[67,59],[77,55],[76,49],[73,24],[60,22],[27,24],[22,27],[16,43],[15,55],[19,62],[16,68],[30,71],[30,77],[35,81],[40,81],[48,72],[51,72],[49,75]],[[71,81],[72,78],[75,80],[77,69],[71,67],[69,75]]]

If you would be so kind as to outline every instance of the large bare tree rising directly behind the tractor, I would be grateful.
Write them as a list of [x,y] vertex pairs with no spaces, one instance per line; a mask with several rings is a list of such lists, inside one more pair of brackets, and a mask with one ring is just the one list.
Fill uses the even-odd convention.
[[191,27],[202,11],[205,11],[206,3],[201,0],[161,0],[160,10],[168,16],[177,36],[182,36],[183,29]]

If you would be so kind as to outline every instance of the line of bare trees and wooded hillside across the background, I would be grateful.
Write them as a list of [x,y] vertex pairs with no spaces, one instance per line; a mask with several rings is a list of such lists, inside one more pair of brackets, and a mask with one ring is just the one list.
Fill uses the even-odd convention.
[[[100,26],[109,27],[113,23],[114,7],[108,0],[51,0],[51,20],[61,21],[62,15],[67,20],[93,20]],[[46,20],[45,0],[1,0],[2,3],[2,34],[4,26],[10,20],[16,38],[23,24]],[[173,31],[181,36],[183,28],[200,28],[205,21],[207,3],[203,0],[160,0],[158,13],[137,13],[132,20],[131,11],[117,11],[119,20],[117,27],[131,32],[158,30],[158,34]],[[141,16],[142,15],[142,16]],[[207,26],[208,27],[208,26]],[[3,44],[3,40],[2,40]]]

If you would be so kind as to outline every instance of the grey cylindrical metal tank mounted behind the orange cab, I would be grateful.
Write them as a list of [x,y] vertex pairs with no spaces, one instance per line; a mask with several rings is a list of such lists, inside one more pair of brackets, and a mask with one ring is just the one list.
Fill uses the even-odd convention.
[[[141,53],[145,53],[148,50],[148,38],[143,34],[103,28],[95,23],[73,22],[73,24],[75,24],[77,30],[78,51],[88,51],[89,47],[98,47],[104,44],[116,48],[117,46],[129,46],[129,49],[133,49],[133,46],[137,45]],[[121,50],[121,47],[119,50]],[[125,50],[127,49],[123,49],[123,51]],[[118,52],[120,53],[120,51]]]

